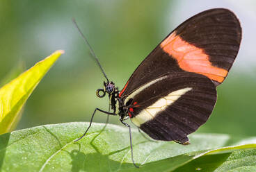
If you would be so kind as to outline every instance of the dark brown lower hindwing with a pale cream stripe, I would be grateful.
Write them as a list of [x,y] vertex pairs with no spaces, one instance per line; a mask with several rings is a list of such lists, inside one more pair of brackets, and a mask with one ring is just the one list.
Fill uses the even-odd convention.
[[185,143],[209,118],[216,87],[206,76],[184,71],[150,81],[125,102],[131,121],[147,135]]

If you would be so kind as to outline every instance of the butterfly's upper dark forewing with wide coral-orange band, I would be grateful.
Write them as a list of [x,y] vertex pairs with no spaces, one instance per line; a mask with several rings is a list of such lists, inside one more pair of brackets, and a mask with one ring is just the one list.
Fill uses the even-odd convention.
[[170,33],[131,75],[120,92],[125,97],[167,73],[189,71],[223,83],[241,42],[241,26],[233,12],[215,8],[187,19]]

